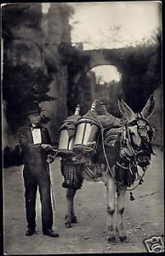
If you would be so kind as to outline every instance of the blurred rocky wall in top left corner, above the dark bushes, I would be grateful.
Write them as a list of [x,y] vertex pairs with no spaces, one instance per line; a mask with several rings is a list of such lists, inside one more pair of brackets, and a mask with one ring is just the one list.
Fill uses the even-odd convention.
[[[38,19],[32,19],[37,15]],[[7,4],[3,7],[3,23],[9,38],[4,41],[4,61],[11,66],[26,63],[42,67],[46,72],[43,56],[44,35],[40,27],[41,4]],[[6,17],[6,20],[5,20]]]

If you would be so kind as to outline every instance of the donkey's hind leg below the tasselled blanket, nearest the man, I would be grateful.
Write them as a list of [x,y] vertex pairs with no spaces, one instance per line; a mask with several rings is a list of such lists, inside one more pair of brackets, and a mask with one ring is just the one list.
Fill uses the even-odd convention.
[[74,196],[77,189],[67,189],[66,190],[66,201],[67,201],[67,213],[65,215],[65,226],[66,228],[71,228],[71,223],[77,223],[77,218],[74,213]]

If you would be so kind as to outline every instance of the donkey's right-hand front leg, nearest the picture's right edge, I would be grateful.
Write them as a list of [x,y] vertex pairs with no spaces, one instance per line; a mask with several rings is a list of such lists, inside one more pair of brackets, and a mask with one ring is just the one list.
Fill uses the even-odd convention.
[[126,187],[124,189],[119,189],[117,195],[117,233],[120,241],[128,242],[124,227],[123,227],[123,212],[125,207],[125,195]]

